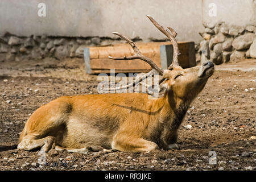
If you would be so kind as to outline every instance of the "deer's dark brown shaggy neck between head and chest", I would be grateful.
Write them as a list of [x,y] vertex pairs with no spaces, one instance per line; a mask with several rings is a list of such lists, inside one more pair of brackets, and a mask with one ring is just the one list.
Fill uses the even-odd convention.
[[[158,101],[162,109],[158,118],[152,121],[151,140],[158,143],[159,147],[164,148],[170,143],[175,143],[177,129],[183,120],[191,101],[182,100],[174,96],[173,92],[166,92]],[[154,123],[154,124],[153,124]]]

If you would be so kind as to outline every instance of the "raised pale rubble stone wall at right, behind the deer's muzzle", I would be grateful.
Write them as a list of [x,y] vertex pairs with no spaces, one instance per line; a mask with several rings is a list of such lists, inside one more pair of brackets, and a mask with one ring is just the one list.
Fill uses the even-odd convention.
[[203,37],[197,47],[197,62],[205,59],[212,60],[215,64],[245,58],[256,58],[256,27],[236,26],[226,22],[216,23],[215,26],[205,25]]

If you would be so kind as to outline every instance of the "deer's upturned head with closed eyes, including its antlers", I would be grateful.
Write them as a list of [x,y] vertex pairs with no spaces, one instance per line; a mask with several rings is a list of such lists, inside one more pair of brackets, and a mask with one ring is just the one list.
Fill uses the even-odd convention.
[[168,67],[168,69],[159,68],[150,58],[142,55],[139,51],[138,47],[135,46],[134,42],[119,34],[118,32],[114,32],[113,34],[120,36],[122,39],[126,40],[130,46],[134,49],[135,54],[129,57],[111,57],[110,59],[115,60],[133,60],[133,59],[141,59],[146,63],[150,64],[152,70],[148,72],[138,80],[135,80],[132,84],[119,86],[116,88],[110,88],[109,90],[115,89],[125,89],[135,84],[138,84],[143,79],[153,76],[154,74],[159,74],[163,76],[161,80],[159,80],[158,84],[163,82],[163,86],[167,89],[168,93],[172,93],[175,98],[180,98],[181,100],[189,100],[192,101],[193,98],[200,93],[200,91],[204,88],[208,78],[212,76],[214,72],[214,64],[211,61],[204,63],[197,67],[183,69],[179,66],[178,55],[179,55],[179,47],[177,41],[175,39],[176,32],[168,27],[168,30],[164,29],[160,24],[158,24],[151,16],[147,15],[147,17],[151,20],[151,22],[155,25],[158,30],[160,30],[164,35],[170,39],[172,46],[174,48],[174,56],[172,59],[172,64]]

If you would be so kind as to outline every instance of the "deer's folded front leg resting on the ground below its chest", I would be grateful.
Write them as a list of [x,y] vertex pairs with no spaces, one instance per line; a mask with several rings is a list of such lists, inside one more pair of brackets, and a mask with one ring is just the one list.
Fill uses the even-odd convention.
[[143,138],[131,138],[125,135],[116,135],[112,142],[112,148],[119,151],[142,152],[159,149],[154,142]]

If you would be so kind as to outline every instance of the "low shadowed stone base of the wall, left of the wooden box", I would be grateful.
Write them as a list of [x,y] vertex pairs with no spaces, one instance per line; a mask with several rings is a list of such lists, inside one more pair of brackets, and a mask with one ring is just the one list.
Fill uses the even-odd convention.
[[[135,42],[141,39],[133,39]],[[124,43],[121,39],[87,37],[69,38],[52,36],[20,37],[9,33],[0,37],[0,61],[20,61],[23,59],[43,59],[55,57],[83,57],[83,48],[88,46],[109,46]]]

